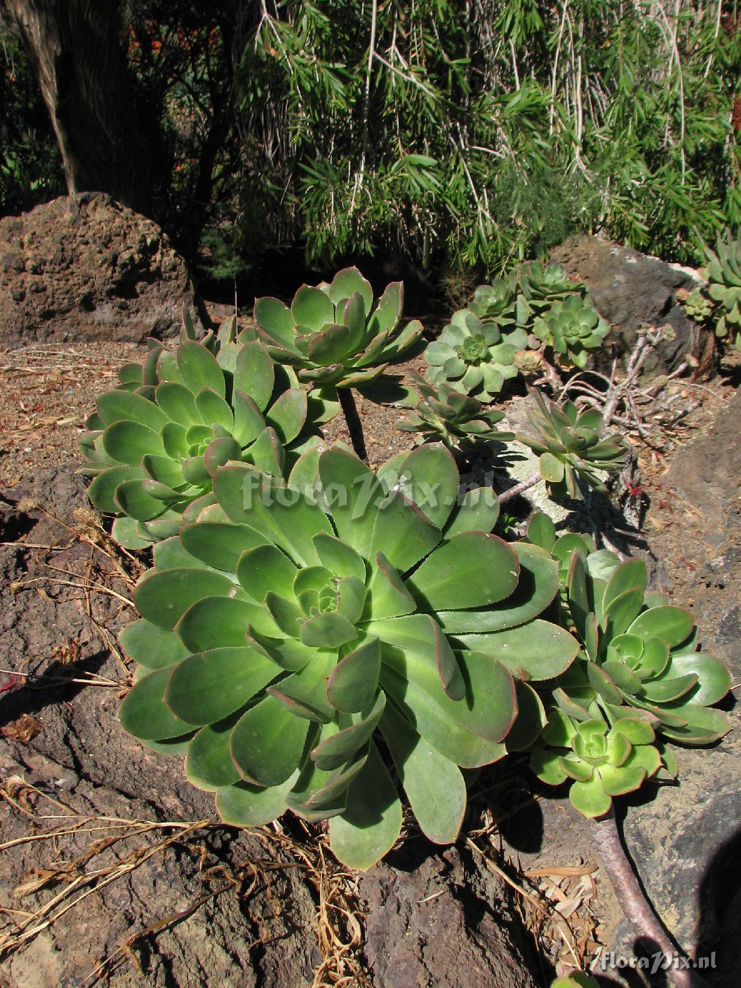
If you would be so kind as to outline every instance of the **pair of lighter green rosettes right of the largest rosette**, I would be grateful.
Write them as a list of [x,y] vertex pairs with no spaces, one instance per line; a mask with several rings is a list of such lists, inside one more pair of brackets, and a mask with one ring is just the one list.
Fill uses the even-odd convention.
[[584,535],[556,538],[539,514],[529,537],[559,561],[560,623],[580,642],[544,698],[547,724],[531,766],[550,785],[572,780],[575,808],[602,816],[646,779],[676,777],[661,739],[705,745],[730,729],[712,705],[728,692],[730,671],[699,650],[689,611],[646,592],[642,559],[620,563]]

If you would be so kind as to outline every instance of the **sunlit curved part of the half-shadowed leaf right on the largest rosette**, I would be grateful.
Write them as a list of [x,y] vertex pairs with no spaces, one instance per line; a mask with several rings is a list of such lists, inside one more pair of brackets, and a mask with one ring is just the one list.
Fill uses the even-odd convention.
[[537,617],[558,590],[558,563],[535,545],[519,542],[515,550],[520,577],[515,591],[501,603],[480,611],[439,611],[437,619],[447,634],[501,631]]

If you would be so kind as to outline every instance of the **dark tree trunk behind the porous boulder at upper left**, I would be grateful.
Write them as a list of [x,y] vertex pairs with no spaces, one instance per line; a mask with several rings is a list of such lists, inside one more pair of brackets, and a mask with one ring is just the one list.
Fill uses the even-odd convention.
[[119,40],[119,0],[2,0],[34,66],[67,190],[148,210],[147,154]]

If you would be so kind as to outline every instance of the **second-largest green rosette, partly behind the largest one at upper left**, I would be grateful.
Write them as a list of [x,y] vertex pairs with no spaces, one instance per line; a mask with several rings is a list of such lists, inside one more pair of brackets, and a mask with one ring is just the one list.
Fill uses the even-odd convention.
[[143,365],[120,371],[121,386],[97,399],[80,438],[90,499],[119,516],[113,535],[128,548],[177,533],[213,500],[222,463],[282,476],[321,443],[318,423],[334,411],[309,399],[261,343],[235,339],[234,320],[202,342],[188,327],[174,350],[152,341]]

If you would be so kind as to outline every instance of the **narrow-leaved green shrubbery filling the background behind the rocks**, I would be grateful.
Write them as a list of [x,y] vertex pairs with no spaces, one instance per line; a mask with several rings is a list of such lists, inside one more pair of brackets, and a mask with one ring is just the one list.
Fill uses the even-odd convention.
[[[702,240],[741,218],[735,4],[126,0],[118,13],[149,211],[218,278],[278,250],[320,270],[377,255],[454,286],[598,229],[700,261]],[[7,12],[2,38],[12,213],[63,176]]]

